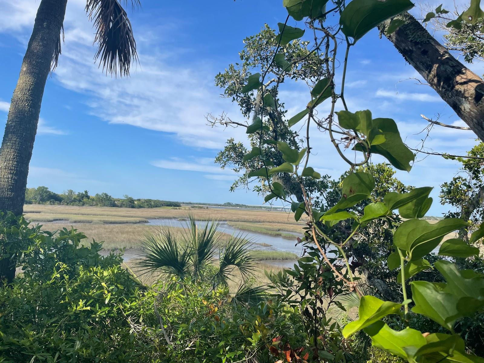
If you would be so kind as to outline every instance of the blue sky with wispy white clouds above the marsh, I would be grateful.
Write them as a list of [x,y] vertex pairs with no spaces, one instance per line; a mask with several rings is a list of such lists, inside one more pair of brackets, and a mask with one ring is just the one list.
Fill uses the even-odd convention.
[[[2,124],[38,3],[0,0]],[[46,185],[55,192],[87,189],[113,197],[262,204],[252,192],[229,192],[234,173],[213,164],[227,138],[245,141],[243,130],[212,129],[204,116],[226,111],[233,120],[244,121],[238,107],[220,97],[213,77],[238,61],[242,39],[264,23],[276,28],[284,22],[282,0],[144,0],[140,9],[129,12],[140,64],[131,77],[121,79],[103,75],[93,62],[93,30],[84,6],[82,0],[68,1],[65,45],[45,87],[28,186]],[[483,73],[480,63],[471,68]],[[348,70],[349,109],[393,118],[410,147],[425,136],[418,134],[427,125],[421,114],[440,114],[442,122],[463,124],[431,88],[408,79],[421,77],[376,30],[352,49]],[[305,84],[287,84],[281,90],[289,116],[307,98]],[[317,130],[313,135],[312,165],[339,176],[345,166],[329,137]],[[425,146],[436,151],[459,154],[475,143],[469,131],[434,128],[430,136]],[[423,155],[417,157],[421,159]],[[452,161],[427,157],[398,177],[407,184],[434,186],[429,214],[439,215],[448,210],[437,200],[439,184],[452,179],[457,168]]]

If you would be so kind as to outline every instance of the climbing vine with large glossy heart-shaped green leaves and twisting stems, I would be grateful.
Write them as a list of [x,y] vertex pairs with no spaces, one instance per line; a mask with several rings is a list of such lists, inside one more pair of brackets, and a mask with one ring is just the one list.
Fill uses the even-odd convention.
[[[342,281],[348,291],[356,291],[360,297],[359,318],[348,323],[343,329],[345,338],[363,330],[368,334],[374,346],[382,348],[394,355],[406,359],[409,363],[438,362],[484,362],[475,355],[466,352],[464,341],[454,332],[454,324],[463,317],[472,316],[484,308],[484,275],[470,270],[459,270],[449,260],[440,260],[431,265],[424,257],[439,245],[439,255],[445,257],[478,256],[479,249],[472,243],[484,236],[484,225],[471,236],[469,243],[460,239],[442,242],[445,235],[463,227],[468,227],[467,221],[458,218],[447,218],[435,224],[423,220],[429,210],[432,198],[430,187],[416,188],[408,193],[391,192],[381,197],[372,197],[375,189],[375,178],[371,172],[357,171],[358,166],[369,164],[373,154],[385,157],[395,168],[410,171],[414,161],[414,153],[402,142],[395,121],[387,118],[372,117],[369,110],[350,112],[344,97],[345,79],[348,57],[351,47],[369,30],[376,28],[384,21],[391,19],[386,32],[391,33],[405,21],[397,15],[413,7],[409,0],[353,0],[348,4],[344,0],[333,1],[334,7],[326,11],[327,0],[284,0],[287,8],[287,18],[279,23],[279,34],[276,37],[277,46],[270,61],[265,65],[262,76],[256,73],[248,77],[242,93],[257,90],[253,124],[247,127],[247,134],[258,134],[258,146],[247,153],[245,161],[258,159],[261,167],[247,174],[248,178],[257,177],[266,183],[269,194],[268,202],[274,198],[291,204],[295,219],[306,215],[307,228],[304,233],[304,247],[311,251],[309,259],[322,261],[334,272],[337,281]],[[471,8],[465,12],[459,21],[476,21],[482,17],[475,9],[476,3],[471,1]],[[479,3],[477,2],[477,6]],[[442,14],[441,6],[436,11]],[[330,22],[337,18],[335,24]],[[296,21],[304,19],[307,29],[314,34],[314,44],[307,54],[301,58],[286,60],[285,46],[289,42],[301,38],[305,30],[289,26],[292,17]],[[427,16],[428,17],[428,16]],[[427,19],[426,19],[427,20]],[[455,23],[450,24],[455,26]],[[342,60],[343,71],[337,75],[337,52],[340,43],[346,44]],[[301,62],[312,54],[319,61],[320,76],[314,79],[310,92],[311,99],[307,106],[288,120],[291,127],[305,120],[304,148],[291,148],[284,141],[276,138],[264,139],[270,131],[264,116],[273,121],[281,114],[278,107],[278,89],[284,83],[285,76],[301,66]],[[266,77],[273,74],[269,82]],[[339,87],[337,82],[339,81]],[[270,89],[269,86],[275,83]],[[339,89],[339,92],[338,92]],[[318,117],[317,106],[325,101],[331,102],[330,112],[324,117]],[[260,107],[259,107],[260,105]],[[341,105],[342,110],[336,111]],[[260,116],[259,116],[260,114]],[[310,166],[311,125],[319,130],[327,131],[330,141],[341,158],[349,165],[350,173],[342,182],[342,198],[329,210],[314,208],[310,193],[306,190],[307,179],[319,179],[321,176]],[[293,136],[293,143],[297,144]],[[344,150],[354,151],[351,160]],[[280,152],[284,160],[278,166],[267,157],[270,150]],[[361,158],[358,159],[358,155]],[[303,201],[293,201],[284,186],[272,181],[277,175],[288,174],[295,178],[302,191]],[[348,209],[356,204],[370,199],[363,213],[350,212]],[[388,258],[390,270],[400,269],[398,281],[402,287],[402,301],[382,301],[376,297],[363,295],[359,288],[359,277],[355,276],[350,266],[345,247],[348,242],[359,242],[359,230],[368,223],[380,218],[387,218],[398,210],[401,223],[393,233],[394,251]],[[345,221],[351,225],[348,236],[342,242],[337,242],[332,236],[338,223]],[[344,263],[345,269],[336,266],[334,258],[328,257],[326,245],[336,248],[337,258]],[[314,254],[318,252],[318,254]],[[306,258],[306,257],[304,257]],[[418,272],[437,269],[446,283],[431,283],[427,281],[412,281],[412,300],[408,299],[408,280]],[[316,298],[315,298],[316,299]],[[449,333],[428,333],[412,329],[408,318],[409,311],[423,315],[445,328]],[[385,322],[389,315],[399,315],[404,322],[403,330],[394,330]]]

